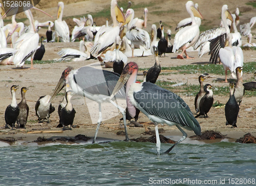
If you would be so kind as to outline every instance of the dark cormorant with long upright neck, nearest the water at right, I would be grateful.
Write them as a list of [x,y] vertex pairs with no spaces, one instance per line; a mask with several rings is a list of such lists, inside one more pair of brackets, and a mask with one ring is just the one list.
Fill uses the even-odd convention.
[[234,98],[234,83],[229,83],[230,97],[225,105],[225,117],[226,125],[232,125],[232,127],[237,126],[237,118],[239,113],[239,105]]

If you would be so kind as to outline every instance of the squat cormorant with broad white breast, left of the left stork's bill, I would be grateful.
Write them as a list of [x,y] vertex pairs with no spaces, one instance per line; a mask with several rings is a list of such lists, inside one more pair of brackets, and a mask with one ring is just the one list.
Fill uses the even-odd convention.
[[49,122],[50,113],[54,112],[55,108],[52,106],[52,103],[50,101],[51,96],[41,96],[39,100],[35,104],[35,113],[38,117],[39,123],[41,123],[41,120],[46,120],[47,123]]

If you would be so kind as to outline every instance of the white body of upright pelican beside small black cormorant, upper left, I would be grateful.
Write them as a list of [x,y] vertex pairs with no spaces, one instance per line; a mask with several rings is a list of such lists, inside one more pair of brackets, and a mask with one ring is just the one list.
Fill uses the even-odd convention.
[[69,27],[65,20],[55,20],[54,21],[54,28],[57,36],[60,37],[62,42],[69,42]]

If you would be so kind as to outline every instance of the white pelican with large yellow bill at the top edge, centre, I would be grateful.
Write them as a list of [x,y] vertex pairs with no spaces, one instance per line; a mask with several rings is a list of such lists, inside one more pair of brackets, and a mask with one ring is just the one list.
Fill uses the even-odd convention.
[[116,0],[111,1],[111,17],[113,19],[113,27],[106,27],[103,25],[95,36],[94,46],[91,50],[91,54],[94,57],[100,56],[102,52],[107,51],[114,46],[115,38],[120,32],[117,21],[125,22],[124,15]]

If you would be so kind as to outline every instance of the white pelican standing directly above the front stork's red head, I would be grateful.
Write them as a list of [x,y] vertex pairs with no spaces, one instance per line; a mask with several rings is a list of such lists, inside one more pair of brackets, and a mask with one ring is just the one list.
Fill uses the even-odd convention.
[[129,21],[129,24],[127,25],[127,29],[129,31],[126,32],[126,38],[131,41],[131,47],[132,47],[132,57],[134,57],[134,45],[141,45],[146,50],[150,49],[150,35],[142,29],[137,28],[136,26],[132,25],[133,19],[134,19],[134,10],[128,9],[126,11],[127,19]]

